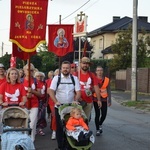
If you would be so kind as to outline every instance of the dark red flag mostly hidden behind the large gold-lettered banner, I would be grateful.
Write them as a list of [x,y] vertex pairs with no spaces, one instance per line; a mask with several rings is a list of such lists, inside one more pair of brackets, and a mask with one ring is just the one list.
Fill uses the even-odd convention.
[[14,57],[20,58],[22,60],[27,60],[35,54],[36,54],[36,51],[30,52],[30,53],[24,52],[16,44],[13,43],[12,55]]

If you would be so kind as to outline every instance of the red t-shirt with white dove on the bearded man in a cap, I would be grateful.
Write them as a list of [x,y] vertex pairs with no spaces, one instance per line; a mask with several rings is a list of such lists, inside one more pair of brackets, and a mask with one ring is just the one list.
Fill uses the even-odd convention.
[[91,92],[93,91],[94,85],[98,85],[98,80],[94,73],[87,72],[86,74],[81,73],[80,71],[80,86],[81,86],[81,98],[82,100],[86,101],[87,103],[92,102],[92,95],[87,96],[86,95],[86,89],[90,89]]

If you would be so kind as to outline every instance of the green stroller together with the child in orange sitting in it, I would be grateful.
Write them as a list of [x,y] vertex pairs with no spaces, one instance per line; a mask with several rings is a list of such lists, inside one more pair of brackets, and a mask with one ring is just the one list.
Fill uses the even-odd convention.
[[[73,117],[74,112],[79,115],[78,119]],[[64,145],[67,146],[66,149],[90,150],[95,141],[95,137],[93,136],[92,131],[89,131],[89,127],[87,125],[88,119],[82,110],[82,106],[75,104],[63,104],[59,106],[59,114],[64,126]],[[72,119],[76,120],[76,123],[72,122]],[[82,122],[82,124],[79,122]]]

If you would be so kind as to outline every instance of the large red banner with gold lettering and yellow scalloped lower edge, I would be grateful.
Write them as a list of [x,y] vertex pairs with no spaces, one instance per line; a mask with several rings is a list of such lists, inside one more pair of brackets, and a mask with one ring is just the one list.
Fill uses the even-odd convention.
[[33,52],[45,42],[48,0],[11,0],[10,41]]

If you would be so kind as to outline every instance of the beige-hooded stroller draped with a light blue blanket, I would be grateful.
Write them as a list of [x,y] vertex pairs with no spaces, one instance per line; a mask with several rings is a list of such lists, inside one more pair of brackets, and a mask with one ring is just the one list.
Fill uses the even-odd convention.
[[26,109],[10,106],[1,110],[1,150],[35,150],[29,136],[29,115]]

